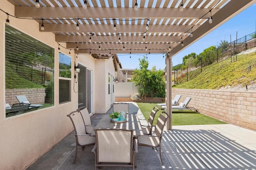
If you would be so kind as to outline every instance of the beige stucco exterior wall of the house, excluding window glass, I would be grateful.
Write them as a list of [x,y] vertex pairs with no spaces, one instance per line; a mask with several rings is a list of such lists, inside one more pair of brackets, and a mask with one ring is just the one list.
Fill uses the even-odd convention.
[[[2,0],[0,8],[14,14],[14,6]],[[54,106],[37,111],[5,117],[5,22],[7,15],[0,12],[0,169],[24,169],[74,128],[66,115],[78,107],[77,93],[74,93],[74,77],[71,81],[71,102],[58,103],[58,53],[59,51],[72,57],[74,67],[74,51],[69,54],[68,49],[58,50],[55,35],[39,32],[38,22],[34,20],[17,19],[9,16],[10,26],[28,34],[55,49],[54,63]],[[65,46],[65,44],[62,44]],[[111,106],[108,94],[108,73],[114,75],[112,59],[94,60],[90,55],[78,55],[76,64],[80,63],[92,71],[92,103],[94,113],[105,113]],[[72,75],[74,70],[72,69]],[[76,84],[77,85],[77,84]],[[75,85],[75,86],[76,86]],[[106,96],[106,97],[104,97]],[[114,95],[112,95],[114,96]],[[113,99],[112,99],[113,101]]]

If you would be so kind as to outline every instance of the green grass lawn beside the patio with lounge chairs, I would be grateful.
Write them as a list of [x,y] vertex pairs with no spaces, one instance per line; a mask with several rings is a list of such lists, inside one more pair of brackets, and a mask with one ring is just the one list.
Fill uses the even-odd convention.
[[[149,118],[149,115],[154,107],[156,107],[156,103],[137,103],[140,111],[144,115],[146,119]],[[162,110],[159,110],[156,113],[156,117],[154,119],[153,125],[156,125],[157,118]],[[216,125],[216,124],[226,124],[222,121],[218,121],[212,117],[208,117],[206,115],[196,113],[194,111],[186,110],[186,111],[172,111],[172,125]]]

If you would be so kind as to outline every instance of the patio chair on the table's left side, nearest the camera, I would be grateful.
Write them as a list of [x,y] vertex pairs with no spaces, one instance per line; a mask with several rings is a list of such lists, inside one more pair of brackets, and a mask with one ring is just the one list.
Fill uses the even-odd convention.
[[67,117],[70,118],[74,130],[75,130],[75,136],[76,136],[76,154],[73,164],[76,163],[76,156],[77,156],[77,150],[78,146],[82,147],[82,150],[84,150],[85,146],[94,145],[96,142],[96,138],[90,136],[90,134],[86,134],[84,121],[82,118],[82,115],[79,111],[73,111]]

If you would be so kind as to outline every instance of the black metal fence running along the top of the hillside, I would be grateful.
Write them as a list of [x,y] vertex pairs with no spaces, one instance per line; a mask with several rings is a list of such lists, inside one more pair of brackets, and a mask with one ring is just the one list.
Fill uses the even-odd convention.
[[198,58],[194,63],[186,68],[174,70],[174,83],[184,83],[193,79],[204,69],[213,64],[219,63],[230,58],[230,61],[236,61],[236,54],[253,47],[256,47],[256,32],[244,36],[238,40],[226,44],[224,47],[218,47],[207,55]]

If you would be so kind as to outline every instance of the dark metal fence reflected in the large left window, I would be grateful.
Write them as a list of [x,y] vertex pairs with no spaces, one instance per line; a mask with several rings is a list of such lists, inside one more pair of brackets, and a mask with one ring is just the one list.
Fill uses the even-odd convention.
[[36,67],[29,64],[20,64],[6,60],[6,66],[15,69],[20,75],[29,81],[44,84],[46,81],[46,68]]

